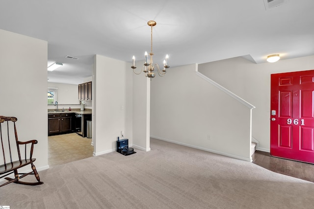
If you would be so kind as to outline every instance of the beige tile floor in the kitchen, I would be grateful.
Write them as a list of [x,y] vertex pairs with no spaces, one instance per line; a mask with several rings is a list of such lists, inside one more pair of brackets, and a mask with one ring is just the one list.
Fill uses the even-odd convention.
[[60,165],[93,156],[92,139],[82,138],[76,133],[48,137],[48,164]]

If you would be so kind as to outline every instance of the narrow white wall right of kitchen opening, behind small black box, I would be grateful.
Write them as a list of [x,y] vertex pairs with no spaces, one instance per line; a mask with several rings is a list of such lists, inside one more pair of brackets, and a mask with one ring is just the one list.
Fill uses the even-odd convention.
[[95,55],[93,71],[94,155],[116,150],[124,131],[132,144],[132,79],[129,64]]

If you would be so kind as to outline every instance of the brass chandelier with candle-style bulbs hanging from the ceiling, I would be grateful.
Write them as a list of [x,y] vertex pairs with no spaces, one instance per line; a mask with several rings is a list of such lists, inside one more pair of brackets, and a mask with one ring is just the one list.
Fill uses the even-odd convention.
[[155,77],[155,73],[154,73],[155,68],[157,69],[158,75],[162,77],[166,74],[167,69],[170,68],[170,66],[168,66],[168,58],[169,58],[168,54],[166,55],[165,60],[163,60],[163,69],[162,70],[159,69],[158,64],[153,63],[153,55],[154,55],[154,53],[153,53],[153,26],[155,26],[157,23],[155,21],[148,21],[147,24],[149,26],[151,26],[151,53],[149,53],[150,62],[148,63],[148,60],[147,60],[148,54],[147,54],[147,51],[145,51],[145,64],[143,65],[142,70],[139,72],[135,71],[136,67],[135,67],[135,57],[134,56],[132,57],[133,65],[131,66],[131,68],[133,69],[133,72],[135,74],[138,75],[143,71],[145,73],[146,77],[149,77],[152,79]]

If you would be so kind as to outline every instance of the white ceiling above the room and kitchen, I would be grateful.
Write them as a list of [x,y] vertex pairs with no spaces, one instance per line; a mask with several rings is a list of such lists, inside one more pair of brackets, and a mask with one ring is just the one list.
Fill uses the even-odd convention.
[[[266,2],[266,3],[265,3]],[[130,62],[150,51],[170,67],[244,56],[314,55],[314,0],[1,0],[0,29],[48,41],[50,82],[78,84],[92,75],[94,54]],[[266,9],[267,8],[267,9]],[[78,57],[78,60],[65,56]],[[131,70],[131,68],[130,68]],[[171,68],[169,69],[171,70]]]

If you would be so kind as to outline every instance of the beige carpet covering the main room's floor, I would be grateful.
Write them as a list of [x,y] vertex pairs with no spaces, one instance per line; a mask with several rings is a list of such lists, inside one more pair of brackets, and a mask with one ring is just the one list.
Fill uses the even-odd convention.
[[157,139],[151,140],[151,149],[135,150],[130,156],[112,152],[41,171],[41,186],[1,187],[0,205],[11,209],[314,207],[314,183]]

